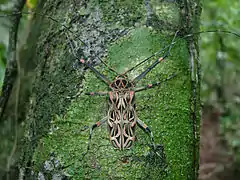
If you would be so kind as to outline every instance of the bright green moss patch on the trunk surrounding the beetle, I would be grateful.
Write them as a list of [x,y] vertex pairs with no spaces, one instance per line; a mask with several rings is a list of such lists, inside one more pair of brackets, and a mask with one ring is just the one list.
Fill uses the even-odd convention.
[[[172,37],[165,38],[149,28],[132,30],[127,36],[108,47],[108,62],[121,73],[136,65],[160,48],[168,45]],[[138,117],[152,130],[155,142],[164,147],[164,158],[148,146],[150,138],[137,128],[137,141],[130,150],[114,150],[108,140],[106,125],[94,130],[90,151],[87,150],[89,129],[107,114],[106,97],[81,95],[71,103],[66,114],[52,119],[52,132],[42,138],[34,154],[36,167],[40,167],[51,152],[73,179],[188,179],[192,169],[192,126],[189,119],[189,74],[187,50],[183,41],[172,49],[172,56],[153,69],[138,86],[177,76],[162,86],[136,94]],[[132,79],[159,56],[129,74]],[[109,78],[113,75],[97,67]],[[83,92],[108,91],[108,87],[92,72],[87,71]],[[42,151],[42,149],[44,149]],[[164,156],[164,154],[161,154]]]

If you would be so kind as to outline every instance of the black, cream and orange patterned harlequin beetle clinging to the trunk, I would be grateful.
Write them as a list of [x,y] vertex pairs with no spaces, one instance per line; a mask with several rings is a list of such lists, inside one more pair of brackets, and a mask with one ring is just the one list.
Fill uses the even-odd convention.
[[[159,63],[163,62],[165,58],[170,54],[171,48],[174,45],[175,38],[178,34],[178,31],[175,33],[174,38],[172,39],[171,44],[168,46],[167,52],[156,61],[154,61],[146,70],[144,70],[141,74],[135,77],[133,80],[127,78],[126,74],[131,71],[133,68],[125,71],[122,74],[118,74],[113,81],[110,81],[107,77],[101,74],[96,70],[91,64],[86,62],[84,59],[79,59],[77,54],[74,52],[73,44],[71,40],[66,34],[70,47],[72,49],[72,53],[76,59],[79,59],[79,62],[86,67],[88,67],[91,71],[93,71],[99,78],[101,78],[108,86],[109,92],[88,92],[86,95],[95,96],[95,95],[108,95],[108,113],[105,118],[96,122],[90,128],[89,133],[89,142],[88,142],[88,150],[90,149],[91,137],[93,130],[96,127],[107,122],[110,142],[112,146],[119,150],[129,149],[133,145],[135,141],[135,128],[138,125],[140,128],[144,129],[146,133],[151,137],[152,145],[155,148],[154,136],[151,132],[150,128],[141,121],[136,112],[136,103],[135,103],[135,93],[139,91],[143,91],[146,89],[153,88],[155,86],[161,85],[162,82],[156,82],[154,84],[148,84],[143,87],[136,88],[136,84],[143,77],[146,76],[148,72],[150,72],[154,67],[156,67]],[[164,48],[166,49],[166,48]],[[142,62],[146,61],[148,58],[144,59]],[[140,63],[142,63],[140,62]],[[139,63],[139,64],[140,64]],[[114,70],[115,71],[115,70]],[[116,71],[115,71],[116,72]],[[176,74],[169,76],[164,81],[170,80],[175,77]]]

